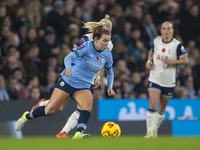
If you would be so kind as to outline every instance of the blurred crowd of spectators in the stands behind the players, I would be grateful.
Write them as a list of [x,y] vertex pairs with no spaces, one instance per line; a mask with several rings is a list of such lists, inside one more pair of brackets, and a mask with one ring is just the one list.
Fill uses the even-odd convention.
[[[199,0],[1,0],[0,100],[48,99],[64,57],[86,33],[83,22],[105,14],[113,23],[113,98],[148,98],[147,54],[166,20],[189,54],[174,98],[200,98],[199,7]],[[94,99],[107,98],[106,88],[103,77]]]

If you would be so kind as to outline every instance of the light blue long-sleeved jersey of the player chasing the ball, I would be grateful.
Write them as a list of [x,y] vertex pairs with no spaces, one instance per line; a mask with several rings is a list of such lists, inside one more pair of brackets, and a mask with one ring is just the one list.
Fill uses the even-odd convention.
[[[75,65],[71,65],[72,61]],[[67,55],[64,63],[66,68],[61,73],[61,77],[70,86],[78,89],[89,89],[94,77],[105,66],[108,89],[112,89],[114,80],[113,60],[109,49],[106,48],[102,52],[97,52],[94,41],[87,41]],[[72,69],[71,77],[64,75],[68,69]]]

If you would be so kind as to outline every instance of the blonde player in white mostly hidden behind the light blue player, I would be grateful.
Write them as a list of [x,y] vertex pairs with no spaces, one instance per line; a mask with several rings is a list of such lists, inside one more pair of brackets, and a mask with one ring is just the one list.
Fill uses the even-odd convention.
[[[109,15],[106,15],[105,16],[105,18],[104,19],[101,19],[100,20],[100,23],[104,23],[105,24],[105,26],[106,26],[106,28],[108,29],[108,31],[110,31],[111,32],[111,30],[112,30],[112,22],[109,20]],[[75,46],[74,46],[74,48],[77,48],[77,47],[79,47],[80,45],[82,45],[84,42],[86,42],[86,41],[92,41],[93,40],[93,32],[94,32],[94,25],[95,24],[99,24],[99,22],[88,22],[88,23],[86,23],[85,24],[85,28],[88,28],[90,31],[91,31],[91,33],[89,33],[89,34],[85,34],[76,44],[75,44]],[[107,47],[110,51],[112,51],[112,48],[113,48],[113,44],[112,44],[112,41],[110,40],[109,41],[109,43],[108,43],[108,47]],[[102,68],[99,72],[98,72],[98,74],[97,74],[97,77],[95,77],[95,79],[94,79],[94,81],[93,81],[93,85],[92,85],[92,87],[91,87],[91,92],[92,92],[92,94],[93,94],[93,88],[95,89],[95,88],[97,88],[98,86],[99,86],[99,84],[100,84],[100,79],[101,79],[101,77],[103,76],[103,73],[104,73],[104,68]],[[71,99],[71,97],[69,97],[68,98],[68,100],[70,100]],[[42,99],[42,100],[40,100],[39,102],[38,102],[38,104],[36,104],[32,109],[31,109],[31,111],[32,110],[34,110],[34,109],[36,109],[36,108],[38,108],[39,106],[46,106],[47,104],[48,104],[48,102],[49,102],[49,100],[44,100],[44,99]],[[65,105],[65,104],[63,104],[63,105]],[[62,110],[62,108],[63,108],[63,106],[61,106],[61,108],[58,110],[58,111],[60,111],[60,110]],[[69,117],[69,119],[67,120],[67,122],[66,122],[66,124],[65,124],[65,126],[62,128],[62,130],[60,131],[60,133],[58,133],[57,135],[56,135],[56,137],[57,138],[68,138],[68,133],[72,130],[72,129],[74,129],[76,126],[77,126],[77,124],[78,124],[78,118],[79,118],[79,116],[80,116],[80,113],[81,113],[81,108],[77,105],[77,110],[75,110],[71,115],[70,115],[70,117]]]

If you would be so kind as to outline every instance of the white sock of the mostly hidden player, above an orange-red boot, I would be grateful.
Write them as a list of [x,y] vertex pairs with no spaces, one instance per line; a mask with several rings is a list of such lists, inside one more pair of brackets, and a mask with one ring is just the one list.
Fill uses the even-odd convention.
[[69,131],[71,131],[72,129],[74,129],[77,124],[78,124],[78,119],[80,117],[80,112],[78,110],[74,111],[71,116],[69,117],[69,119],[67,120],[65,126],[63,127],[63,129],[60,132],[67,132],[69,133]]

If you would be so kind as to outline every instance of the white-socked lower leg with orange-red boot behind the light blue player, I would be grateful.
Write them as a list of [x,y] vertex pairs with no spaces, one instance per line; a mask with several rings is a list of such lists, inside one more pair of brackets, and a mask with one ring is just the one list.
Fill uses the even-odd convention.
[[80,117],[80,113],[81,113],[81,110],[77,109],[76,111],[74,111],[71,114],[71,116],[67,120],[67,122],[66,122],[65,126],[63,127],[63,129],[60,131],[60,133],[58,133],[56,135],[57,138],[68,138],[69,131],[74,129],[78,124],[78,119]]

